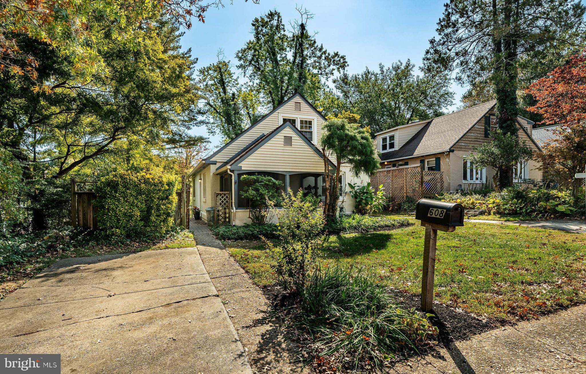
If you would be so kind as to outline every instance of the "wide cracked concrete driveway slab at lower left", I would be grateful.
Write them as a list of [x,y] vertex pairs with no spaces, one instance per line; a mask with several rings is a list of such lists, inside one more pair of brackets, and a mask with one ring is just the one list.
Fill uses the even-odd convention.
[[0,302],[2,354],[62,373],[251,373],[195,248],[64,259]]

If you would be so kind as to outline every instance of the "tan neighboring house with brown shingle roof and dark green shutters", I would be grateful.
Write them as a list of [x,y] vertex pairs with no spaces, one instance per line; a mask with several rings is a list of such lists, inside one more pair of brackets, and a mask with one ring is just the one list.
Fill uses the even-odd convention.
[[[473,152],[473,146],[492,141],[489,131],[496,128],[495,105],[496,101],[489,101],[377,133],[381,169],[423,164],[425,170],[444,172],[444,191],[475,190],[487,183],[492,186],[492,167],[477,169],[463,157]],[[519,138],[537,151],[532,125],[532,121],[517,116]],[[538,167],[533,160],[517,164],[515,182],[540,180]]]

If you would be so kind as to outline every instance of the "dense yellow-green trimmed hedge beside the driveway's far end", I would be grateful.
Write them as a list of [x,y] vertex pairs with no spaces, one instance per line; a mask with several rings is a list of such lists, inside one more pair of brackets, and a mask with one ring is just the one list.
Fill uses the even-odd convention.
[[96,187],[98,227],[115,238],[160,237],[173,225],[175,176],[156,170],[115,171]]

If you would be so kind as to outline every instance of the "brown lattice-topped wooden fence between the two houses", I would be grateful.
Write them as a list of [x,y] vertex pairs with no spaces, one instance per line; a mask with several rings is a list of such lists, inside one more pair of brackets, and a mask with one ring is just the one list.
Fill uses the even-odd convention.
[[444,190],[444,172],[423,170],[421,165],[380,169],[370,177],[370,184],[373,188],[382,184],[392,201],[403,201],[407,196],[420,200]]

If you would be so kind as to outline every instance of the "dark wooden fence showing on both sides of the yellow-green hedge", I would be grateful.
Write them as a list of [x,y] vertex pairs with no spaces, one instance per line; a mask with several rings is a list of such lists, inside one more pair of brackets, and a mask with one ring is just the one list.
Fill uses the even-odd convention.
[[[71,179],[71,226],[95,230],[98,228],[97,207],[94,206],[96,193],[94,191],[77,191],[78,183],[85,185],[96,182]],[[181,177],[181,186],[175,194],[177,195],[177,204],[175,205],[173,222],[175,225],[189,228],[191,187],[185,183],[185,176]]]

